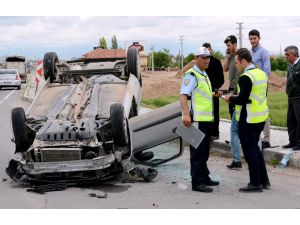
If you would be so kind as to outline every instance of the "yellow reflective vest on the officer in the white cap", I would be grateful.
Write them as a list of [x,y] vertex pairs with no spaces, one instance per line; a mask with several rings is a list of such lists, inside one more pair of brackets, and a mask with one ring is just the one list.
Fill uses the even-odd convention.
[[198,122],[213,121],[213,98],[210,80],[208,76],[193,68],[189,69],[185,75],[190,73],[194,73],[197,80],[197,87],[192,92],[193,120]]

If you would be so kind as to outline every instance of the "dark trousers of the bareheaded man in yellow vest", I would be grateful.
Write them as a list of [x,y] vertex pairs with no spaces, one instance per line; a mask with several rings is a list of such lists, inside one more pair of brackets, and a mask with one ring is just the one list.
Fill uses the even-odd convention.
[[266,163],[258,140],[265,122],[249,124],[239,122],[238,133],[246,162],[248,163],[250,184],[260,185],[269,181]]

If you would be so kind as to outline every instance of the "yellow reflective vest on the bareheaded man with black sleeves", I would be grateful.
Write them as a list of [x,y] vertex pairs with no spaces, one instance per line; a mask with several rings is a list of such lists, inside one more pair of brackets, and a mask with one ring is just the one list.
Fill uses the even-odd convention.
[[[253,69],[246,71],[240,77],[247,76],[252,81],[252,90],[249,99],[250,104],[246,104],[247,123],[261,123],[266,121],[269,116],[269,108],[267,106],[267,86],[268,77],[260,69]],[[240,86],[237,85],[238,94],[240,93]],[[242,106],[236,105],[236,120],[239,121]]]

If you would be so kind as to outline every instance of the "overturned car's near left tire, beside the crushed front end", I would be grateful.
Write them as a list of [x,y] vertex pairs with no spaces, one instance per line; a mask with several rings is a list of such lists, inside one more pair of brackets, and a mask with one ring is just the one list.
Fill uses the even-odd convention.
[[30,142],[26,130],[26,116],[23,108],[17,107],[12,109],[11,123],[16,144],[15,152],[25,152],[30,147]]

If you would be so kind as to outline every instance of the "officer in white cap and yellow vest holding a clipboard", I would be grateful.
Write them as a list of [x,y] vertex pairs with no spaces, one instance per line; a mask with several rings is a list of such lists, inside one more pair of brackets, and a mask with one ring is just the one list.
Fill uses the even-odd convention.
[[[207,160],[210,150],[211,127],[213,122],[213,96],[210,80],[205,73],[210,60],[210,52],[200,47],[195,52],[195,65],[183,76],[180,103],[182,107],[182,122],[189,127],[193,124],[201,130],[205,137],[197,149],[190,146],[190,162],[192,190],[212,192],[209,186],[219,185],[209,177]],[[188,106],[188,97],[191,96],[191,107]]]

